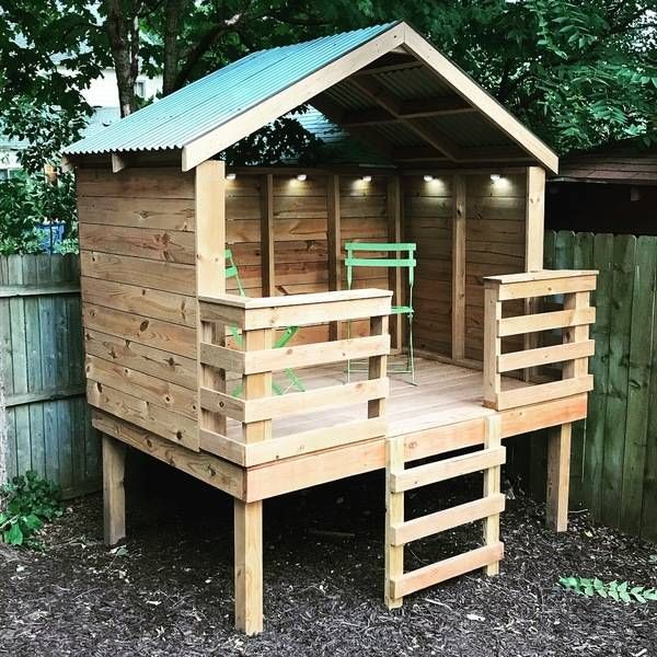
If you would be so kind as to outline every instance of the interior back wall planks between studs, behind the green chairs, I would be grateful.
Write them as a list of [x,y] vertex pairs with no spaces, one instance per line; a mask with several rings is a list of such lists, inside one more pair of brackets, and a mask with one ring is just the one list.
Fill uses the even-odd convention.
[[[264,217],[264,175],[239,174],[227,181],[227,243],[232,250],[247,296],[263,295],[261,220]],[[341,256],[347,241],[388,240],[387,176],[368,182],[358,175],[339,176]],[[309,171],[306,181],[293,174],[273,176],[274,280],[275,295],[327,291],[328,203],[327,176]],[[339,263],[346,287],[344,263]],[[237,291],[233,281],[228,289]],[[388,289],[383,269],[364,268],[355,287]],[[367,323],[355,322],[353,333],[367,334]],[[304,327],[295,344],[328,339],[328,326]]]

